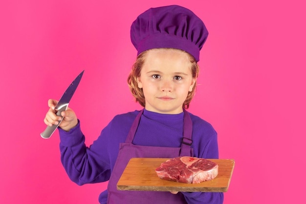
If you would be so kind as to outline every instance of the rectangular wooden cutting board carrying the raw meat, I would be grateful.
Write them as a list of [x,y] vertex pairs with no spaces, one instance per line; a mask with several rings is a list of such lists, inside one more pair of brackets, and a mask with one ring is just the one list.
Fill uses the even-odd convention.
[[181,192],[226,192],[233,174],[234,159],[209,159],[219,165],[218,176],[201,183],[180,183],[159,179],[155,169],[165,158],[132,158],[121,175],[118,190],[133,191],[181,191]]

